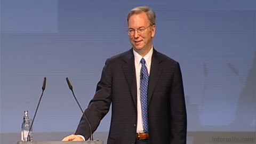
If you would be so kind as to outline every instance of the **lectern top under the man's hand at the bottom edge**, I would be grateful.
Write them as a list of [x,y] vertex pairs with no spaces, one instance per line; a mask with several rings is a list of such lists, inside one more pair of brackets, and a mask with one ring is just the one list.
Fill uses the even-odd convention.
[[103,141],[18,141],[17,144],[103,144]]

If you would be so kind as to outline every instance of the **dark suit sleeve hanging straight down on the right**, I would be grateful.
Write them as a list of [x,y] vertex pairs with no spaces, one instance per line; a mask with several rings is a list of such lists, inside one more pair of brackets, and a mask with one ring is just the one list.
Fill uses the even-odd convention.
[[170,95],[171,144],[186,144],[187,113],[179,63],[175,66]]

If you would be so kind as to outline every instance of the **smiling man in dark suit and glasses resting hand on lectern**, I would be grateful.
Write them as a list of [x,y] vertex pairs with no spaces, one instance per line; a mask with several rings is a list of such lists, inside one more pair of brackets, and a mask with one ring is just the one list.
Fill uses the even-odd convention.
[[[185,144],[187,116],[179,63],[153,47],[155,12],[135,7],[127,15],[132,49],[107,59],[85,115],[94,132],[112,104],[107,143]],[[90,137],[84,118],[75,135]]]

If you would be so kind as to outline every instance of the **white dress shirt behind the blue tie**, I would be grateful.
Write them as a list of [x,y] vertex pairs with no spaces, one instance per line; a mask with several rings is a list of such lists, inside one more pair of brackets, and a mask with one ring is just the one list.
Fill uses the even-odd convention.
[[143,123],[142,123],[141,103],[140,103],[140,69],[141,69],[140,60],[142,58],[145,59],[146,67],[148,69],[148,75],[149,75],[150,67],[151,67],[151,59],[153,55],[153,46],[144,57],[141,57],[141,55],[134,50],[133,50],[133,54],[134,54],[134,65],[135,65],[136,82],[137,82],[137,133],[142,133],[144,132],[144,130],[143,130]]

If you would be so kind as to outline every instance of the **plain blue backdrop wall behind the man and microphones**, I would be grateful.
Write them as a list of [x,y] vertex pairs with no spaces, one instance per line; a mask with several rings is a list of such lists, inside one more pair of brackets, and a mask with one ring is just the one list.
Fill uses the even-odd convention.
[[74,132],[65,78],[85,109],[105,60],[131,49],[126,14],[140,5],[157,14],[156,50],[180,62],[188,131],[255,131],[255,1],[2,0],[1,133],[32,118],[44,77],[34,132]]

